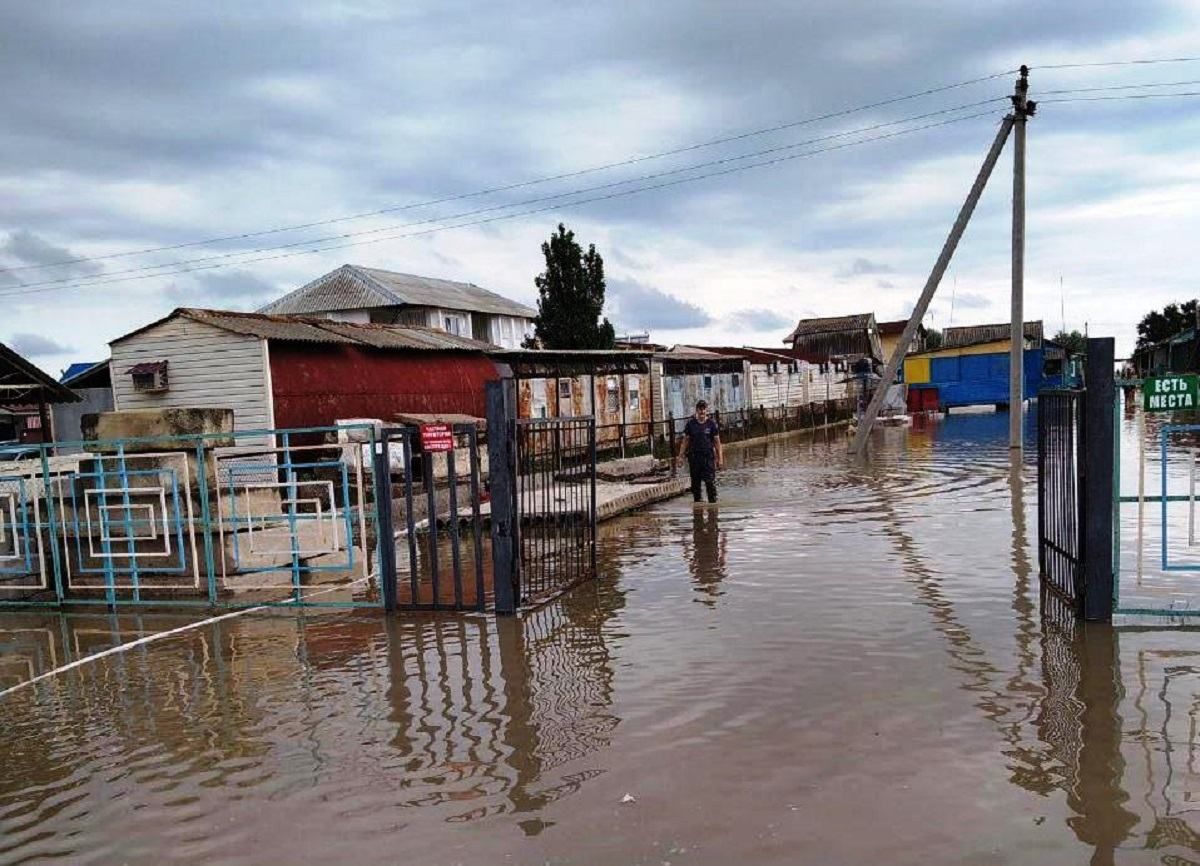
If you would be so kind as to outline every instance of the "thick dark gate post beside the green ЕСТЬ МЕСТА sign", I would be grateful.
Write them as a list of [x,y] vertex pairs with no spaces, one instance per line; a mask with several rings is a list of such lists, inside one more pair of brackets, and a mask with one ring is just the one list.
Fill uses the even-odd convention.
[[1099,337],[1087,341],[1084,383],[1081,455],[1084,501],[1084,618],[1110,621],[1112,619],[1112,512],[1114,461],[1116,433],[1112,413],[1116,399],[1114,381],[1115,341]]

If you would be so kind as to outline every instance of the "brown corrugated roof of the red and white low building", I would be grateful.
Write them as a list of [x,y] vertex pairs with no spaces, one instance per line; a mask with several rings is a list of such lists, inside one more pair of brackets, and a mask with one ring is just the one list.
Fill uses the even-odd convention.
[[312,319],[302,315],[266,315],[238,313],[232,309],[180,307],[162,319],[131,331],[113,342],[128,339],[163,321],[184,317],[230,333],[293,343],[334,343],[370,345],[376,349],[416,349],[425,351],[494,351],[497,347],[468,337],[456,337],[432,327],[408,325],[360,325],[350,321]]

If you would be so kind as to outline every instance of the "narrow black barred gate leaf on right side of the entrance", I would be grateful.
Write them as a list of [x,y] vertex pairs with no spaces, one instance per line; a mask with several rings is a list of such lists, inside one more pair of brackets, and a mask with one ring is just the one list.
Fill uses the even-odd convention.
[[1076,615],[1084,605],[1085,391],[1038,395],[1038,565],[1045,589]]

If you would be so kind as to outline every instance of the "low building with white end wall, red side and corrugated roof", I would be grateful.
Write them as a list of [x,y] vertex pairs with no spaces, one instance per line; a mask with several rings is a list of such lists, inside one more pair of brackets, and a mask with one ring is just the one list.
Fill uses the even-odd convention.
[[494,347],[430,327],[181,307],[110,343],[113,404],[232,409],[235,431],[485,414]]

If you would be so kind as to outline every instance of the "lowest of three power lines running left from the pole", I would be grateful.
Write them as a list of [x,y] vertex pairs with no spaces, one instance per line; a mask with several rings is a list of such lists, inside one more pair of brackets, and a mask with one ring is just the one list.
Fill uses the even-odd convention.
[[[962,122],[962,121],[974,120],[977,118],[985,118],[985,116],[995,116],[995,114],[994,114],[994,112],[978,112],[976,114],[968,114],[968,115],[965,115],[965,116],[950,118],[948,120],[941,120],[941,121],[936,121],[936,122],[932,122],[932,124],[925,124],[924,126],[917,126],[917,127],[912,127],[912,128],[907,128],[907,130],[898,130],[895,132],[884,133],[882,136],[872,136],[872,137],[859,139],[859,140],[854,140],[854,142],[845,142],[842,144],[835,144],[835,145],[830,145],[828,148],[821,148],[821,149],[812,150],[812,151],[805,151],[805,152],[802,152],[802,154],[787,154],[787,155],[784,155],[784,156],[776,156],[776,157],[773,157],[770,160],[763,160],[761,162],[750,163],[750,164],[746,164],[746,166],[732,166],[732,167],[727,167],[727,168],[724,168],[724,169],[720,169],[720,170],[709,172],[709,173],[706,173],[706,174],[692,175],[692,176],[688,176],[688,178],[676,178],[673,180],[667,180],[667,181],[664,181],[661,184],[652,184],[652,185],[648,185],[648,186],[637,187],[635,190],[622,190],[622,191],[617,191],[617,192],[611,192],[611,193],[607,193],[607,194],[604,194],[604,196],[594,196],[594,197],[589,197],[589,198],[582,198],[582,199],[577,199],[577,200],[574,200],[574,202],[566,202],[566,203],[563,203],[563,204],[565,204],[568,206],[575,206],[575,205],[592,204],[592,203],[596,203],[596,202],[607,202],[607,200],[616,199],[616,198],[622,198],[622,197],[625,197],[625,196],[634,196],[634,194],[642,193],[642,192],[650,192],[650,191],[654,191],[654,190],[662,190],[662,188],[671,187],[671,186],[679,186],[682,184],[690,184],[690,182],[694,182],[694,181],[697,181],[697,180],[706,180],[708,178],[716,178],[716,176],[722,176],[722,175],[727,175],[727,174],[734,174],[737,172],[745,172],[745,170],[754,169],[754,168],[763,168],[763,167],[767,167],[767,166],[774,166],[774,164],[779,164],[779,163],[782,163],[782,162],[790,162],[792,160],[800,160],[800,158],[805,158],[805,157],[810,157],[810,156],[817,156],[820,154],[827,154],[827,152],[830,152],[830,151],[834,151],[834,150],[844,150],[846,148],[853,148],[853,146],[858,146],[858,145],[862,145],[862,144],[870,144],[872,142],[881,142],[881,140],[886,140],[886,139],[889,139],[889,138],[896,138],[899,136],[907,136],[907,134],[912,134],[914,132],[922,132],[924,130],[931,130],[931,128],[940,127],[940,126],[948,126],[950,124],[959,124],[959,122]],[[474,219],[474,221],[469,221],[469,222],[462,222],[462,223],[454,223],[454,224],[439,225],[439,227],[433,227],[433,228],[426,228],[426,229],[421,229],[419,231],[409,231],[409,233],[397,234],[397,235],[390,235],[390,236],[371,237],[368,240],[356,240],[356,241],[350,241],[350,242],[347,242],[347,243],[335,243],[335,245],[329,245],[329,246],[323,246],[323,247],[313,247],[313,248],[310,248],[310,249],[296,249],[296,251],[286,252],[286,253],[276,253],[274,255],[263,255],[263,257],[259,257],[259,258],[247,259],[247,260],[244,260],[244,261],[217,263],[217,264],[210,264],[210,265],[200,265],[200,266],[197,266],[197,267],[180,269],[180,270],[176,270],[176,271],[166,271],[166,272],[158,272],[158,273],[144,273],[144,275],[131,276],[131,277],[118,277],[115,279],[112,279],[112,278],[108,278],[108,279],[91,279],[91,281],[76,282],[76,283],[71,283],[71,284],[66,284],[66,285],[48,285],[48,287],[38,287],[38,288],[25,287],[25,288],[18,288],[18,289],[7,290],[7,291],[0,291],[0,297],[8,297],[8,296],[16,296],[16,295],[28,295],[28,294],[37,294],[37,293],[43,293],[43,291],[60,291],[60,290],[65,290],[65,289],[80,289],[80,288],[89,288],[91,285],[103,285],[103,284],[113,283],[113,282],[132,282],[132,281],[137,281],[137,279],[150,279],[150,278],[155,278],[155,277],[174,276],[174,275],[178,275],[178,273],[192,273],[192,272],[196,272],[196,271],[215,270],[215,269],[220,269],[220,267],[228,267],[228,266],[232,266],[232,265],[248,265],[248,264],[256,264],[256,263],[259,263],[259,261],[274,261],[274,260],[278,260],[278,259],[293,258],[293,257],[296,257],[296,255],[307,255],[307,254],[311,254],[311,253],[328,252],[328,251],[331,251],[331,249],[344,249],[344,248],[348,248],[348,247],[365,246],[365,245],[368,245],[368,243],[379,243],[382,241],[388,241],[388,240],[401,240],[401,239],[406,239],[406,237],[415,237],[415,236],[419,236],[419,235],[427,235],[427,234],[433,234],[433,233],[437,233],[437,231],[445,231],[445,230],[449,230],[449,229],[469,228],[469,227],[473,227],[473,225],[482,225],[482,224],[488,224],[488,223],[493,223],[493,222],[500,222],[500,221],[505,221],[505,219],[515,219],[517,217],[530,216],[533,214],[541,214],[541,212],[545,212],[545,211],[548,211],[548,210],[553,210],[553,209],[556,209],[558,206],[559,206],[558,204],[550,204],[550,205],[544,205],[544,206],[540,206],[540,208],[533,208],[533,209],[523,210],[523,211],[516,211],[516,212],[511,212],[511,214],[500,214],[500,215],[486,217],[486,218],[482,218],[482,219]]]

